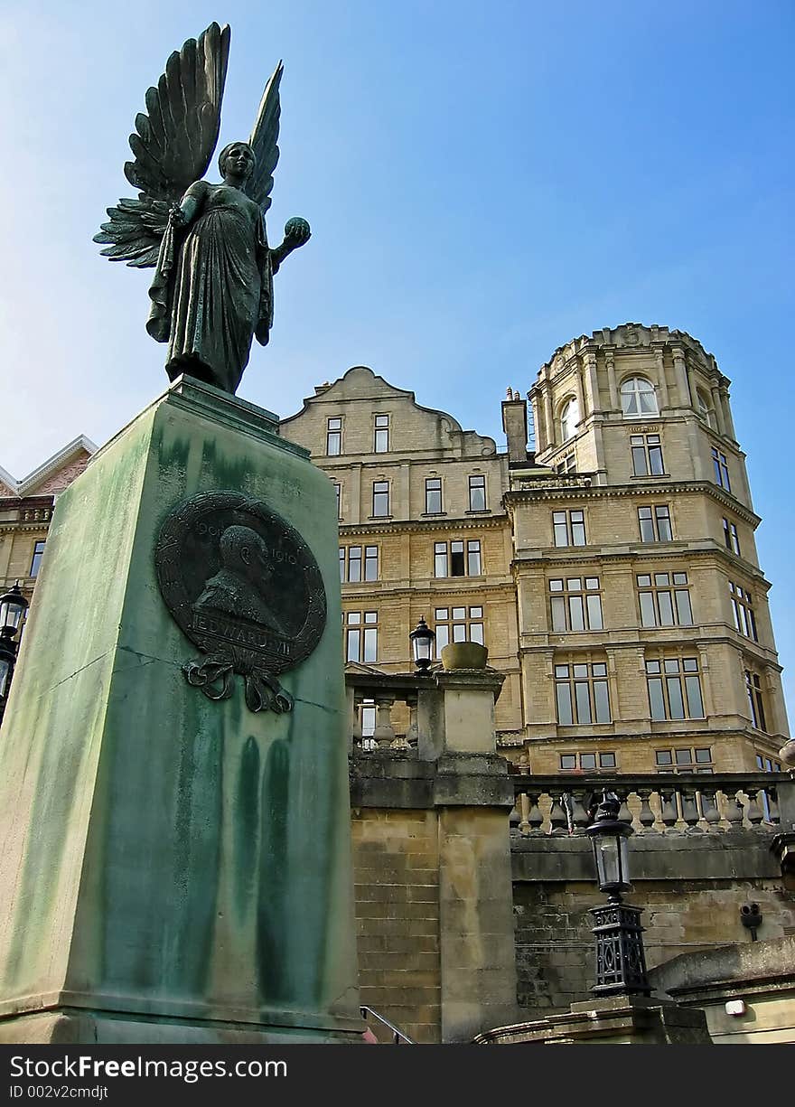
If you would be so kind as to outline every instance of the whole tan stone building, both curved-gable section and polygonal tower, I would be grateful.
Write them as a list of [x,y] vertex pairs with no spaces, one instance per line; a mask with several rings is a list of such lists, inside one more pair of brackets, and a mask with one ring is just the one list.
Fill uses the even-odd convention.
[[437,653],[485,642],[499,745],[534,773],[779,768],[760,518],[714,356],[628,323],[560,346],[528,399],[535,452],[513,389],[504,453],[362,366],[281,423],[338,489],[347,661],[406,671],[421,615]]

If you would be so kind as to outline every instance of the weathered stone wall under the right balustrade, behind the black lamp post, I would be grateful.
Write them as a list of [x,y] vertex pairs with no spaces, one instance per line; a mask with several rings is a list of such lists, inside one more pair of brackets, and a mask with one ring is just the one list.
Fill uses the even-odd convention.
[[[758,938],[795,933],[795,894],[770,851],[771,835],[639,835],[630,842],[633,889],[644,908],[650,969],[699,948],[751,942],[740,908],[760,904]],[[587,1000],[596,979],[589,909],[605,902],[584,838],[515,839],[514,912],[519,1005],[527,1017]]]

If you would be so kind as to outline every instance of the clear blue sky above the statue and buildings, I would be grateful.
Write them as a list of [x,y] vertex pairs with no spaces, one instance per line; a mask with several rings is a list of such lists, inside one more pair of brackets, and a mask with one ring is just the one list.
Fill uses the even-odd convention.
[[[166,384],[148,273],[91,241],[131,195],[127,135],[172,50],[231,24],[220,142],[279,58],[269,236],[312,239],[239,394],[281,415],[366,364],[502,442],[574,335],[686,330],[733,381],[795,704],[792,2],[3,3],[0,365],[17,476],[101,443]],[[12,386],[9,382],[13,381]],[[792,711],[791,711],[792,714]]]

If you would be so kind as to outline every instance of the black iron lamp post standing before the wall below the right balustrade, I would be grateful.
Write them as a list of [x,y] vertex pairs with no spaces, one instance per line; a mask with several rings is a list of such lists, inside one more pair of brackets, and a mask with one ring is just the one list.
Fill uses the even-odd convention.
[[629,823],[619,819],[620,804],[612,793],[603,792],[593,823],[587,835],[593,847],[593,859],[601,891],[608,893],[605,907],[591,908],[596,937],[597,982],[595,995],[650,995],[646,977],[642,908],[621,900],[629,891],[629,857],[627,839],[632,834]]

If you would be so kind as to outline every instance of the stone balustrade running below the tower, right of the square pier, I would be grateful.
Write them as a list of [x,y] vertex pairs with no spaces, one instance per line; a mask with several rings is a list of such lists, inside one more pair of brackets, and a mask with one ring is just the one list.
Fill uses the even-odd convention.
[[[602,789],[621,801],[619,818],[638,834],[777,834],[795,820],[795,782],[787,773],[653,774],[605,776],[513,775],[512,834],[585,835],[589,800]],[[782,819],[781,806],[786,810]],[[779,806],[781,805],[781,806]]]

